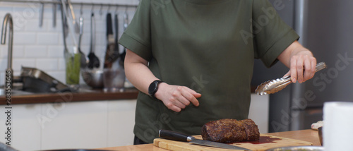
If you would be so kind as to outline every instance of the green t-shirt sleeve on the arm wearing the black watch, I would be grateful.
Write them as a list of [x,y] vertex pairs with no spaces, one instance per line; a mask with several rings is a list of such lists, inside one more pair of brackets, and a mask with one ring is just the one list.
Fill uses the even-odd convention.
[[140,1],[136,13],[119,39],[119,44],[149,61],[151,52],[150,1]]

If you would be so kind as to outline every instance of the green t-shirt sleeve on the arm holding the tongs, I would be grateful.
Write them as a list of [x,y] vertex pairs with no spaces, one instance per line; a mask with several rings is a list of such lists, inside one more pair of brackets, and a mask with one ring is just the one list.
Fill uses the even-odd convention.
[[255,58],[273,66],[279,56],[299,35],[278,16],[268,0],[253,1],[253,44]]

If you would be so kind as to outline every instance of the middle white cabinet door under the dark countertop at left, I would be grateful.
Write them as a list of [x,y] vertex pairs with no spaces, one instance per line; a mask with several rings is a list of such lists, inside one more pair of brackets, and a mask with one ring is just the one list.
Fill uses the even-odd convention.
[[42,150],[106,147],[107,104],[42,104],[42,119],[47,120],[42,127]]

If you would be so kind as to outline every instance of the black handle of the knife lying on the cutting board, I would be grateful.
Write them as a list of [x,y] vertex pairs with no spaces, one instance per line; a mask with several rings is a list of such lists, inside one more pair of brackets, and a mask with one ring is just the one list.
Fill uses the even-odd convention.
[[168,140],[177,140],[182,142],[190,142],[193,139],[193,136],[174,131],[160,130],[160,138],[165,138]]

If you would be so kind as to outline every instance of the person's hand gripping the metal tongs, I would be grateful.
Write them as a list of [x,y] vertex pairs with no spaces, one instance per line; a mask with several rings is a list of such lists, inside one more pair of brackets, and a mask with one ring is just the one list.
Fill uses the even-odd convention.
[[313,54],[304,49],[292,55],[290,59],[290,70],[285,76],[290,75],[293,83],[304,83],[313,78],[316,69],[316,59]]

